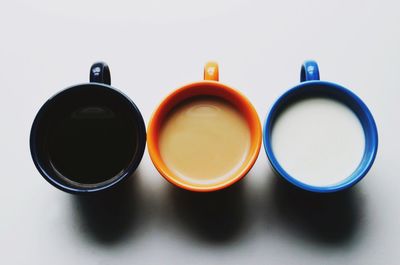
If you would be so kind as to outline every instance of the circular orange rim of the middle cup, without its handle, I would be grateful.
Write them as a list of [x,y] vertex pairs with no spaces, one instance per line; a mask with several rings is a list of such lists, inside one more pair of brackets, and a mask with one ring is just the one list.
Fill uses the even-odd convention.
[[[201,86],[207,86],[207,87],[213,87],[215,89],[223,89],[225,92],[228,92],[228,94],[231,95],[235,95],[237,97],[239,97],[241,99],[241,103],[242,106],[244,106],[249,113],[251,113],[252,116],[252,121],[249,121],[249,119],[246,118],[247,122],[251,122],[250,126],[253,126],[254,129],[254,133],[251,134],[251,138],[252,141],[255,142],[255,147],[250,149],[250,159],[245,162],[247,163],[246,166],[240,171],[240,172],[236,172],[234,177],[229,178],[226,181],[223,181],[221,183],[218,184],[213,184],[213,185],[209,185],[209,186],[197,186],[195,184],[189,184],[187,182],[184,181],[180,181],[179,179],[177,179],[177,177],[169,172],[169,170],[166,170],[168,167],[165,165],[165,163],[162,161],[161,156],[159,155],[159,150],[158,150],[158,127],[160,125],[160,123],[162,122],[162,117],[160,117],[161,113],[164,112],[167,109],[167,112],[169,112],[169,110],[176,106],[177,103],[180,103],[184,100],[187,100],[188,98],[192,98],[192,97],[196,97],[196,96],[207,96],[207,95],[211,95],[211,94],[196,94],[196,95],[190,95],[187,98],[184,98],[183,100],[177,101],[175,104],[173,103],[173,100],[176,99],[177,95],[179,95],[180,93],[183,93],[186,90],[190,90],[193,89],[195,87],[201,87]],[[199,88],[201,89],[201,88]],[[215,95],[211,95],[211,96],[215,96]],[[223,98],[221,96],[221,98]],[[213,81],[213,80],[202,80],[202,81],[198,81],[198,82],[193,82],[193,83],[189,83],[186,84],[176,90],[173,90],[171,93],[169,93],[162,101],[161,103],[158,105],[158,107],[156,108],[156,110],[153,112],[151,118],[150,118],[150,122],[148,124],[148,128],[147,128],[147,133],[148,133],[148,151],[149,151],[149,155],[150,158],[154,164],[154,166],[156,167],[157,171],[170,183],[172,183],[173,185],[189,190],[189,191],[194,191],[194,192],[212,192],[212,191],[217,191],[217,190],[221,190],[224,188],[227,188],[231,185],[233,185],[234,183],[240,181],[249,171],[250,169],[253,167],[254,163],[256,162],[259,152],[260,152],[260,148],[261,148],[261,141],[262,141],[262,129],[261,129],[261,123],[257,114],[256,109],[254,108],[254,106],[251,104],[251,102],[238,90],[227,86],[223,83],[220,83],[219,81]]]

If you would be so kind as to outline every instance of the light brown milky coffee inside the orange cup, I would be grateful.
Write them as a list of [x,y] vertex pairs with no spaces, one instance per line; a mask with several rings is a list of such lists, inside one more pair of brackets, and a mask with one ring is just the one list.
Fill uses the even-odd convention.
[[160,152],[182,180],[215,184],[232,177],[250,148],[246,119],[215,97],[196,97],[175,107],[160,132]]

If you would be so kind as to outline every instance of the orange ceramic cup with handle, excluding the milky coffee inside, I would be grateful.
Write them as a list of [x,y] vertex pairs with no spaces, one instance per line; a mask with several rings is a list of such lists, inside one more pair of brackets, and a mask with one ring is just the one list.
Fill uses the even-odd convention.
[[[204,67],[204,81],[187,84],[169,94],[158,106],[151,117],[147,130],[147,146],[154,166],[158,172],[172,184],[186,190],[210,192],[226,188],[242,179],[254,165],[261,146],[262,131],[257,112],[250,101],[239,91],[218,82],[219,69],[215,62]],[[170,111],[179,103],[197,96],[218,97],[233,105],[247,121],[250,131],[250,147],[246,158],[230,177],[212,184],[199,184],[183,179],[171,170],[160,153],[160,129]],[[190,158],[188,158],[190,159]]]

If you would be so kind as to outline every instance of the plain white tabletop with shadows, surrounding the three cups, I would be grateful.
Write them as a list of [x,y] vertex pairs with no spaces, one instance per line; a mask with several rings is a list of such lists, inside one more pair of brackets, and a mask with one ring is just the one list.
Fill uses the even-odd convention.
[[[3,1],[1,263],[398,264],[399,10],[361,0]],[[199,197],[172,189],[146,153],[117,207],[58,191],[35,169],[36,112],[86,82],[94,61],[110,65],[112,84],[148,121],[209,59],[262,120],[299,82],[303,60],[317,60],[321,78],[353,90],[376,119],[370,173],[341,197],[299,195],[277,182],[262,150],[238,192]]]

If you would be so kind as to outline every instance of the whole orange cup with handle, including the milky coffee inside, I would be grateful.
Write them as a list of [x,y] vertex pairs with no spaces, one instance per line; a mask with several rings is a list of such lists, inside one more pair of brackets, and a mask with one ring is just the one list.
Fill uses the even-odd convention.
[[211,192],[234,184],[259,154],[262,132],[255,108],[218,80],[218,64],[208,62],[204,80],[169,94],[148,125],[154,166],[166,180],[189,191]]

